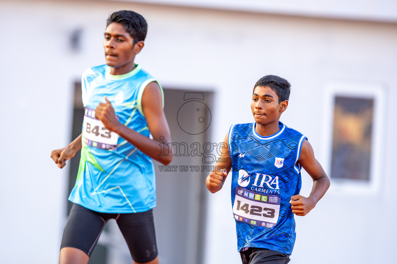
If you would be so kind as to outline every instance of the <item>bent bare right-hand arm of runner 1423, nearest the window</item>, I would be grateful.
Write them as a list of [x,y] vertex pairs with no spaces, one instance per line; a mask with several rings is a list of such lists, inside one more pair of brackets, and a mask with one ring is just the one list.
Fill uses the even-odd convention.
[[320,163],[314,158],[312,145],[307,140],[304,140],[302,143],[301,156],[298,162],[313,179],[312,192],[308,198],[300,194],[291,196],[292,213],[304,216],[324,196],[328,187],[330,187],[330,179],[328,179]]

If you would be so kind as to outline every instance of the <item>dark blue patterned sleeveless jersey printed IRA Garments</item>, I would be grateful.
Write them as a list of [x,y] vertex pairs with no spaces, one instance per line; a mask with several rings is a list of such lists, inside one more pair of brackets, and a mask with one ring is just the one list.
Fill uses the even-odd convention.
[[306,137],[281,122],[278,133],[262,137],[255,125],[233,125],[229,133],[237,248],[259,247],[291,254],[295,220],[289,201],[301,190],[300,165],[295,163]]

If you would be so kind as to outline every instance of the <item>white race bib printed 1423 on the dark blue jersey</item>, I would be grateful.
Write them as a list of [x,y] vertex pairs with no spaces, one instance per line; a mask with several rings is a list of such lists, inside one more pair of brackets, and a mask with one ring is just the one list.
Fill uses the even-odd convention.
[[237,221],[272,228],[280,212],[280,196],[251,192],[236,188],[233,214]]

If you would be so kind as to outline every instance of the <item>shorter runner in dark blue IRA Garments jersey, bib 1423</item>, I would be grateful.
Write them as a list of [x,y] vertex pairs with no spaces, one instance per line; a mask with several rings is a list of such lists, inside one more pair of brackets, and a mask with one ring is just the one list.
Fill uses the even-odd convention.
[[[218,192],[232,170],[231,204],[243,264],[288,263],[296,237],[294,214],[306,215],[330,184],[307,138],[279,121],[290,86],[274,75],[256,82],[251,100],[255,122],[231,125],[223,162],[206,179],[208,190]],[[313,179],[309,197],[299,194],[301,166]]]

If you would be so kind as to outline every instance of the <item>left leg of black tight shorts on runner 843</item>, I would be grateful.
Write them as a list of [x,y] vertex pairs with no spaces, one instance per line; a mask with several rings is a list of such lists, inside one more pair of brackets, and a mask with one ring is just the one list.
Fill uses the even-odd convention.
[[90,256],[105,224],[106,220],[98,213],[74,203],[65,225],[61,249],[75,247]]

